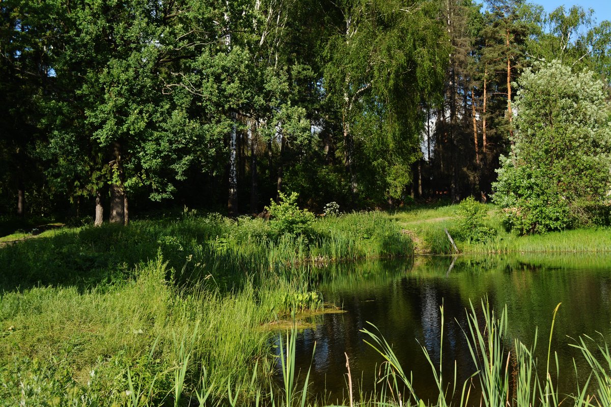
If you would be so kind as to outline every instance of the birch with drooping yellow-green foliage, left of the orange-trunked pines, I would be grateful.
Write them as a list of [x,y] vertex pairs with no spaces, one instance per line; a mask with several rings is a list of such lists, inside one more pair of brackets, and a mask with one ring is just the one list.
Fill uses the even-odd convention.
[[421,156],[420,106],[440,99],[449,52],[439,6],[415,1],[405,13],[398,1],[338,4],[324,88],[341,117],[350,189],[365,204],[400,198]]

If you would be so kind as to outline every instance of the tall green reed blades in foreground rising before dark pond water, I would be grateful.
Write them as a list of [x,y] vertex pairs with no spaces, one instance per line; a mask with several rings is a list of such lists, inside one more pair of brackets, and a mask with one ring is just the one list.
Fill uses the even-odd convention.
[[[439,367],[435,366],[428,355],[425,347],[422,348],[427,360],[432,368],[434,381],[437,383],[439,392],[436,402],[430,404],[431,407],[448,407],[458,403],[459,406],[470,405],[485,405],[487,407],[559,407],[570,406],[574,407],[602,407],[611,405],[611,353],[604,338],[601,343],[596,343],[589,336],[580,337],[576,344],[572,345],[579,349],[585,360],[591,367],[591,373],[588,380],[582,387],[577,384],[576,391],[568,395],[560,395],[555,389],[557,377],[552,377],[550,362],[552,361],[552,335],[554,331],[555,317],[558,311],[558,306],[554,309],[552,317],[552,328],[550,331],[550,340],[547,349],[547,360],[545,369],[538,372],[538,361],[534,358],[536,348],[536,333],[535,343],[532,347],[527,347],[521,341],[515,340],[514,347],[507,347],[507,307],[503,308],[500,315],[497,315],[494,309],[491,308],[488,300],[481,301],[481,313],[475,310],[475,307],[470,303],[470,311],[467,312],[467,331],[464,331],[466,336],[470,355],[474,362],[477,371],[471,378],[467,379],[462,384],[460,397],[457,398],[455,393],[456,374],[450,383],[444,381],[444,375],[441,370],[441,362]],[[443,326],[443,306],[440,309]],[[481,322],[480,322],[481,320]],[[372,325],[373,326],[373,325]],[[375,326],[374,326],[375,328]],[[403,406],[418,406],[423,407],[425,403],[415,394],[412,385],[411,373],[406,373],[404,368],[395,356],[392,350],[392,345],[386,342],[384,337],[378,333],[362,330],[372,339],[367,342],[373,347],[384,359],[384,364],[387,368],[382,373],[380,380],[386,383],[386,387],[392,389],[389,392],[381,392],[381,400],[383,405],[403,405]],[[443,330],[441,333],[441,346],[443,345]],[[594,344],[598,351],[598,356],[591,351],[588,345]],[[516,356],[516,375],[511,378],[510,360],[511,353],[515,352]],[[555,372],[560,374],[558,359],[554,353]],[[576,369],[577,374],[577,369]],[[595,378],[595,385],[591,386],[591,378]],[[475,380],[472,380],[475,379]],[[511,381],[511,383],[510,383]],[[402,383],[409,391],[408,397],[401,397],[401,387],[398,383]],[[478,386],[475,389],[475,386]],[[447,389],[452,387],[453,391],[448,394]],[[511,388],[513,387],[513,391]],[[480,400],[470,400],[471,392],[481,394]]]

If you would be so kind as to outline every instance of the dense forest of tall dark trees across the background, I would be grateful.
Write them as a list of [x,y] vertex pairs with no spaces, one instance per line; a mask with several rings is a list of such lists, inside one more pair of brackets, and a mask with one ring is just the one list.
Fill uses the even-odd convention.
[[[127,222],[486,200],[516,79],[611,77],[611,23],[520,0],[5,0],[0,214]],[[607,91],[606,91],[607,92]]]

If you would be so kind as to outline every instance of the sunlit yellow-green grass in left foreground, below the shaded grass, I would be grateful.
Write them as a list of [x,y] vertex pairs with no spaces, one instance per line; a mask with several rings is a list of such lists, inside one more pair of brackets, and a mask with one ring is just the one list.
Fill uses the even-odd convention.
[[[40,287],[2,295],[2,403],[18,405],[26,390],[32,405],[54,397],[68,405],[82,395],[101,405],[122,403],[130,369],[133,381],[152,389],[153,405],[169,405],[186,342],[191,355],[186,393],[199,386],[203,367],[211,381],[232,378],[240,384],[261,358],[262,377],[269,374],[269,333],[258,326],[284,309],[284,294],[298,292],[294,285],[270,281],[257,289],[246,284],[234,293],[201,287],[186,292],[166,281],[161,260],[136,273],[103,291]],[[67,386],[74,394],[65,392]],[[214,395],[224,391],[219,387]]]

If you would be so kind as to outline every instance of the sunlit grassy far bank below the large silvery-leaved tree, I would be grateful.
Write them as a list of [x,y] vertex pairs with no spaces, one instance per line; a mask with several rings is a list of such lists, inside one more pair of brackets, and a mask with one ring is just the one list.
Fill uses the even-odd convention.
[[611,251],[609,228],[575,229],[541,235],[518,236],[502,226],[502,212],[486,204],[483,224],[492,233],[485,239],[461,237],[458,230],[458,206],[419,206],[392,215],[404,232],[412,236],[415,251],[420,254],[454,253],[444,229],[448,229],[461,253],[562,253]]

